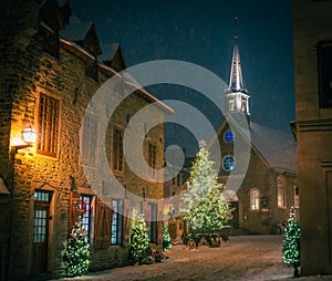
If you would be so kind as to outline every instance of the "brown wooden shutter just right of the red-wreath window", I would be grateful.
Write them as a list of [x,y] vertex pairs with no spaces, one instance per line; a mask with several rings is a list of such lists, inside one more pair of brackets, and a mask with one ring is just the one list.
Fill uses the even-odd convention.
[[106,249],[111,244],[111,218],[112,210],[103,201],[97,199],[95,208],[95,232],[94,232],[94,248]]

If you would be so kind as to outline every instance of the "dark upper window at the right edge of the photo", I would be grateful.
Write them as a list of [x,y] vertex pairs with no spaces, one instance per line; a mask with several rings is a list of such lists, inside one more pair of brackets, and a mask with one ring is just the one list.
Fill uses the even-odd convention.
[[332,108],[332,42],[318,44],[319,103],[321,108]]

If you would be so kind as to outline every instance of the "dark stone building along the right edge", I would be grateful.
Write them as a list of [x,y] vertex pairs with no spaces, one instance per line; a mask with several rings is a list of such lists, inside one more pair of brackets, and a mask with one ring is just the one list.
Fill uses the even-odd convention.
[[332,274],[332,1],[293,0],[301,275]]

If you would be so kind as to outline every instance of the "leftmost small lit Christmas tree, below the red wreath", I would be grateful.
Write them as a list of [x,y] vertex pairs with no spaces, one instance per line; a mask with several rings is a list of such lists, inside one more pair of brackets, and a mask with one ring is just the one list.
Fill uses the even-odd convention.
[[82,228],[81,222],[75,222],[63,256],[64,275],[79,277],[87,272],[90,264],[89,248],[85,229]]

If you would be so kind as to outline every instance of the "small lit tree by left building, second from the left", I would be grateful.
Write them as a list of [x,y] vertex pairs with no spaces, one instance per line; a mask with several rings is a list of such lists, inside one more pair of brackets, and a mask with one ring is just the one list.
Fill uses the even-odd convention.
[[142,214],[134,220],[131,229],[129,257],[138,264],[152,263],[148,229]]

